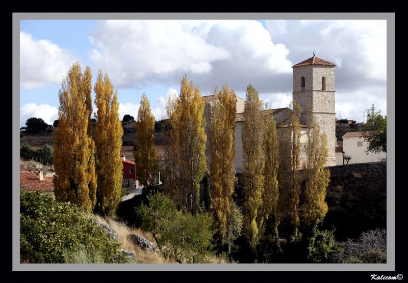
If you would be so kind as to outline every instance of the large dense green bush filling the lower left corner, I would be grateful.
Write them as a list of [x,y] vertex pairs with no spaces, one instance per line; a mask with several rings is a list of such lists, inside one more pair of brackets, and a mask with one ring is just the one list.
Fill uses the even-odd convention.
[[127,263],[102,227],[70,203],[42,191],[20,191],[20,261],[65,263],[72,252],[93,250],[103,263]]

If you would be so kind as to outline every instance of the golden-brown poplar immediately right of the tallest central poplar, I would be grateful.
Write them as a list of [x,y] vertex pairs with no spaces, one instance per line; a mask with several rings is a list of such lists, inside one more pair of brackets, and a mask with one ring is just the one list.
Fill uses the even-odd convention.
[[225,239],[227,217],[230,214],[235,188],[235,114],[237,97],[225,84],[211,108],[209,164],[212,182],[212,206],[218,219],[218,233]]

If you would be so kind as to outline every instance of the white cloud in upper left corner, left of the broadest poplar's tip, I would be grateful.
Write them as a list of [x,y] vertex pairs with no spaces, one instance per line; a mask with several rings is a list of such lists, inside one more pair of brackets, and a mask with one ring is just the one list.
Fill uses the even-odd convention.
[[79,60],[49,40],[36,40],[20,31],[20,84],[25,89],[59,83]]

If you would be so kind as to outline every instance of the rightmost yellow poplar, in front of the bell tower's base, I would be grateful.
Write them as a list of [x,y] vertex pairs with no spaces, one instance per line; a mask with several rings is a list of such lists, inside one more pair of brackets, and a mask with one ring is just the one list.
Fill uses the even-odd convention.
[[306,160],[303,164],[305,189],[301,206],[301,219],[304,225],[303,236],[313,241],[317,225],[328,211],[325,202],[326,188],[330,181],[330,172],[325,168],[327,160],[327,137],[320,134],[320,127],[308,105],[308,141],[305,145]]

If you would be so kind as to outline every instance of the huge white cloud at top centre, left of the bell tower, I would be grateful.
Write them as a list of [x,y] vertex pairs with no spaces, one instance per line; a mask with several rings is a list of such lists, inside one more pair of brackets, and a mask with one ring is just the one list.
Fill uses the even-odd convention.
[[272,43],[253,20],[105,20],[89,40],[90,58],[118,88],[174,83],[188,73],[204,75],[194,84],[209,91],[210,76],[234,85],[245,76],[290,73],[292,66],[285,45]]

